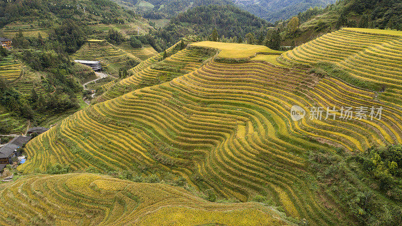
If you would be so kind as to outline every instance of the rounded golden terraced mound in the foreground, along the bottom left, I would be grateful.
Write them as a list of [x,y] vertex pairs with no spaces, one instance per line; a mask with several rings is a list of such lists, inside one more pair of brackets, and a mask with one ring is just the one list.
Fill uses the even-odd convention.
[[182,188],[94,174],[30,176],[0,190],[3,225],[289,225],[258,203],[212,203]]

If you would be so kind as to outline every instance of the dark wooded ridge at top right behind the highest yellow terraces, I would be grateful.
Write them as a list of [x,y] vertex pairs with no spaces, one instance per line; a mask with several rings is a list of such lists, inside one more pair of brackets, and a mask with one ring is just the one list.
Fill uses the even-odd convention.
[[344,0],[326,8],[315,7],[297,15],[299,27],[289,30],[293,19],[277,23],[282,38],[287,44],[304,43],[320,34],[342,27],[378,28],[402,30],[400,0]]

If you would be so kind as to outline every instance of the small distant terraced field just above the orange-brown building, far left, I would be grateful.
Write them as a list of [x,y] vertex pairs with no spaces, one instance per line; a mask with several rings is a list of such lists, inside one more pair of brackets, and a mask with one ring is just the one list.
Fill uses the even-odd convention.
[[38,25],[34,23],[27,24],[19,21],[6,25],[0,31],[6,38],[12,39],[20,30],[25,37],[38,37],[38,34],[41,34],[42,38],[49,36],[49,30],[47,28],[38,27]]

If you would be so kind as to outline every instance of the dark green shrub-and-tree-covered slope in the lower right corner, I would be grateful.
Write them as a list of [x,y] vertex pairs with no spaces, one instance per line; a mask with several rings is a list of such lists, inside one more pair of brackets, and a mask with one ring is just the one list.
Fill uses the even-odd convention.
[[402,146],[310,153],[319,186],[361,225],[402,224]]

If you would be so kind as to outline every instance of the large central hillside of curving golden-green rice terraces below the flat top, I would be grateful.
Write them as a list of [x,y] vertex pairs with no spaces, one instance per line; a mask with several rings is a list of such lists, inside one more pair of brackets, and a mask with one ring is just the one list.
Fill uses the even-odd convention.
[[[230,49],[227,45],[223,48]],[[132,77],[114,87],[158,78],[155,68],[177,61],[186,62],[181,69],[188,72],[133,92],[114,94],[116,89],[110,88],[103,96],[107,101],[75,113],[30,141],[28,161],[19,170],[45,171],[60,163],[73,170],[169,172],[197,190],[212,189],[219,197],[243,202],[256,195],[272,197],[288,216],[305,218],[309,225],[344,225],[348,220],[337,216],[341,210],[325,204],[337,197],[324,197],[315,188],[306,155],[333,146],[358,151],[402,143],[402,108],[336,78],[319,78],[309,69],[279,67],[262,59],[212,59],[189,66],[194,63],[188,55],[191,50],[162,61],[160,55],[143,61],[132,69]],[[383,111],[381,120],[293,121],[293,105],[308,114],[311,107],[323,107],[324,116],[326,106],[336,106],[338,117],[342,106]]]

